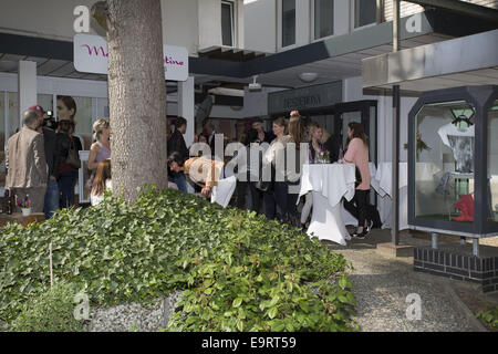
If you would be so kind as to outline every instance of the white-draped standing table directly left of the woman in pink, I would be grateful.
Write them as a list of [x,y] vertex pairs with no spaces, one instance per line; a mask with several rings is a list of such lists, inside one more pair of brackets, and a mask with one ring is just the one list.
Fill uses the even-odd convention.
[[309,236],[346,244],[351,237],[342,219],[341,199],[354,197],[355,180],[354,164],[303,165],[299,196],[313,194]]

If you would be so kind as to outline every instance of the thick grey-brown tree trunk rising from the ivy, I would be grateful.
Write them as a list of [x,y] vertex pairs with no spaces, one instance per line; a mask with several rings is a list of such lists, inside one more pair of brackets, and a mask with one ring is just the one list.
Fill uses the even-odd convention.
[[107,0],[108,101],[114,196],[167,188],[166,83],[160,0]]

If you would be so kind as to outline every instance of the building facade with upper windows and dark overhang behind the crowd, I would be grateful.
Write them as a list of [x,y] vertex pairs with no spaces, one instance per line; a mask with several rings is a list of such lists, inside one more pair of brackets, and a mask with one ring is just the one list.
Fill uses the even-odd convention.
[[[58,95],[73,96],[76,133],[85,139],[85,148],[90,147],[92,123],[108,116],[106,76],[74,69],[73,38],[81,17],[76,8],[90,9],[93,2],[1,2],[0,149],[19,127],[24,104],[19,94],[20,61],[35,63],[32,101],[56,115]],[[496,0],[466,2],[498,9]],[[344,135],[347,122],[364,122],[371,135],[371,159],[391,159],[392,94],[390,88],[363,90],[362,61],[392,51],[392,1],[163,0],[162,13],[164,43],[184,46],[189,55],[188,80],[166,82],[168,116],[181,115],[191,123],[187,143],[199,132],[196,106],[209,95],[214,98],[209,117],[230,139],[240,136],[250,117],[270,121],[300,110],[338,135]],[[401,1],[401,49],[496,25],[411,1]],[[91,20],[89,34],[105,33]],[[251,82],[262,87],[251,91]],[[406,160],[407,114],[418,95],[402,92],[402,160]],[[279,107],[280,101],[286,105]]]

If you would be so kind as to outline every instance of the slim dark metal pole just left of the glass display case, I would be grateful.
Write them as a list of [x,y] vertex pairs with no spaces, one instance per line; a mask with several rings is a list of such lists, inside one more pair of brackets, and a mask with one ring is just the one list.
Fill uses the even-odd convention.
[[[400,50],[400,0],[393,0],[393,52]],[[392,216],[391,239],[400,244],[400,85],[393,85],[393,155],[392,155]]]

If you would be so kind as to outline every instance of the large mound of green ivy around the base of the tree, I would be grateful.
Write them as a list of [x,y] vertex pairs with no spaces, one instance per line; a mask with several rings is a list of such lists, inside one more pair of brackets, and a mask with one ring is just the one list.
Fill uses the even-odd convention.
[[[49,288],[74,283],[92,305],[147,302],[185,290],[168,331],[352,331],[351,264],[300,229],[143,188],[133,205],[92,208],[0,229],[0,320]],[[332,278],[333,281],[329,281]]]

